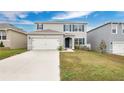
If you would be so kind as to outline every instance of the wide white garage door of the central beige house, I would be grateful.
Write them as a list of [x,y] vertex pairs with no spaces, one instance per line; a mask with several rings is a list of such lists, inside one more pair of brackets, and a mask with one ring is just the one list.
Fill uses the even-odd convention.
[[57,49],[58,47],[58,39],[32,39],[33,50]]

